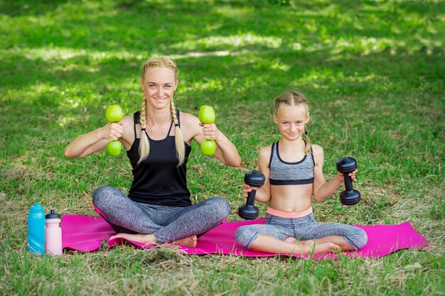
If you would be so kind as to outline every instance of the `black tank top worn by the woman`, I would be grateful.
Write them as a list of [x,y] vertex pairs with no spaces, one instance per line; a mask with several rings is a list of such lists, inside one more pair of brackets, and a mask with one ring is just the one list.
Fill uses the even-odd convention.
[[[149,137],[150,153],[139,165],[139,143],[136,138],[136,124],[139,124],[140,111],[134,113],[134,143],[127,151],[127,156],[133,167],[133,182],[128,197],[135,202],[158,204],[169,207],[187,207],[191,205],[190,191],[187,188],[187,160],[191,146],[186,146],[186,158],[178,167],[175,137],[169,136],[173,121],[166,138],[152,140]],[[176,110],[179,123],[179,111]],[[181,126],[181,125],[180,125]],[[144,131],[146,133],[146,131]]]

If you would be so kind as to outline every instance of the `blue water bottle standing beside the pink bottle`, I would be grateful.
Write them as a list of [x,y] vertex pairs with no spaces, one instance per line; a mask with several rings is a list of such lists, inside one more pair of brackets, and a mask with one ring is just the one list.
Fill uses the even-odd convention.
[[45,254],[45,213],[36,202],[28,214],[28,252]]

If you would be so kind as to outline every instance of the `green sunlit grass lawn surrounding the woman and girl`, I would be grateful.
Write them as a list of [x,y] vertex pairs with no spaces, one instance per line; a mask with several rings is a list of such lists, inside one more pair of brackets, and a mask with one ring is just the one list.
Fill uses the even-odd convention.
[[[0,293],[2,295],[444,295],[443,1],[0,1]],[[41,3],[44,2],[44,3]],[[92,192],[127,192],[127,158],[68,159],[63,148],[104,125],[104,110],[139,108],[141,63],[180,69],[176,106],[214,106],[244,166],[279,137],[274,98],[296,90],[309,134],[335,160],[354,156],[362,202],[314,204],[319,221],[410,221],[434,248],[379,259],[183,256],[132,246],[26,253],[33,202],[96,215]],[[200,154],[193,202],[223,195],[239,221],[243,172]],[[259,204],[264,213],[266,206]]]

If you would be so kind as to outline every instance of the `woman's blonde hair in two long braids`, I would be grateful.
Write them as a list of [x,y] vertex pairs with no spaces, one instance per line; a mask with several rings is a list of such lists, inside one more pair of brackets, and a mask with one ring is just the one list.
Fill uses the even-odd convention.
[[[155,67],[169,68],[173,70],[175,76],[175,82],[178,80],[178,68],[176,67],[176,64],[172,60],[170,60],[168,57],[153,57],[150,60],[146,60],[144,62],[144,65],[142,65],[141,81],[144,81],[146,71],[150,68],[155,68]],[[184,146],[183,134],[181,128],[179,127],[178,117],[176,116],[176,109],[175,109],[175,104],[173,103],[173,98],[171,98],[170,102],[170,112],[173,118],[173,124],[175,125],[176,155],[178,156],[178,166],[180,166],[184,163],[184,160],[186,158],[186,147]],[[139,119],[142,133],[141,133],[141,142],[139,145],[139,161],[137,162],[138,165],[139,163],[141,163],[142,160],[146,159],[150,153],[149,137],[145,133],[145,128],[146,128],[145,116],[146,116],[146,100],[145,97],[142,97],[141,116]]]

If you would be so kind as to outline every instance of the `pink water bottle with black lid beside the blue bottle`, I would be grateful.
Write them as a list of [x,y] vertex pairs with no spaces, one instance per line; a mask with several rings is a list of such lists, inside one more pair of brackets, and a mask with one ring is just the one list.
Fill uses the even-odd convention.
[[60,215],[53,209],[45,216],[45,250],[47,254],[58,256],[62,254],[62,229],[60,228]]

